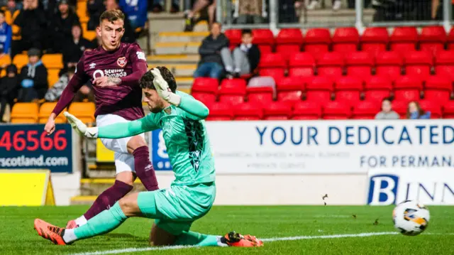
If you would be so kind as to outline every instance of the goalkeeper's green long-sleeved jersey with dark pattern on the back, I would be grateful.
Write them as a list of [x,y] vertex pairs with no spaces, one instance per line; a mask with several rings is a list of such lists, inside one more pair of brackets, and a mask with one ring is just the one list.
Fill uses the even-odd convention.
[[162,129],[175,180],[172,185],[214,182],[214,159],[204,119],[208,108],[189,94],[177,91],[181,102],[142,119],[99,127],[99,138],[118,139]]

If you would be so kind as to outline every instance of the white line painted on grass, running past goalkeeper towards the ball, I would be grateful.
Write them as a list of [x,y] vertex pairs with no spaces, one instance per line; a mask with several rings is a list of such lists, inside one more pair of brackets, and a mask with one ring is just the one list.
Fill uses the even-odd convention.
[[[369,232],[359,234],[332,234],[324,236],[299,236],[299,237],[273,237],[261,239],[263,242],[277,242],[277,241],[293,241],[302,239],[333,239],[333,238],[348,238],[348,237],[372,237],[372,236],[384,236],[388,234],[399,234],[397,232]],[[174,249],[189,249],[200,246],[164,246],[164,247],[145,247],[145,248],[128,248],[128,249],[116,249],[110,251],[89,251],[72,255],[104,255],[104,254],[122,254],[138,251],[165,251]]]

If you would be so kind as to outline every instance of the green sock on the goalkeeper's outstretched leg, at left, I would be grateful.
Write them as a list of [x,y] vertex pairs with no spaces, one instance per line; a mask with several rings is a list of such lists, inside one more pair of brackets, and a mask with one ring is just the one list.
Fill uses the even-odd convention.
[[70,243],[79,239],[105,234],[116,229],[127,218],[118,202],[116,202],[109,210],[104,210],[99,215],[89,219],[87,224],[75,229],[65,229],[63,239],[66,243]]

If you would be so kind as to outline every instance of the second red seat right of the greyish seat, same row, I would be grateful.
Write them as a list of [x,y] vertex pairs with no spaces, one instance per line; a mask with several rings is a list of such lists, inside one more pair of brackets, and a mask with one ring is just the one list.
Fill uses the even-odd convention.
[[306,85],[306,100],[323,104],[331,101],[333,81],[328,77],[314,77]]

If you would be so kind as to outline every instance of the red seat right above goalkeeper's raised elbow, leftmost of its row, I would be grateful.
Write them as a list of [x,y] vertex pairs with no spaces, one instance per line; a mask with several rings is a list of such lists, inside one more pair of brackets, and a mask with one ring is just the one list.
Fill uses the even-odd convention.
[[218,93],[218,80],[214,78],[199,77],[194,80],[191,88],[192,96],[203,102],[211,104],[216,101]]

